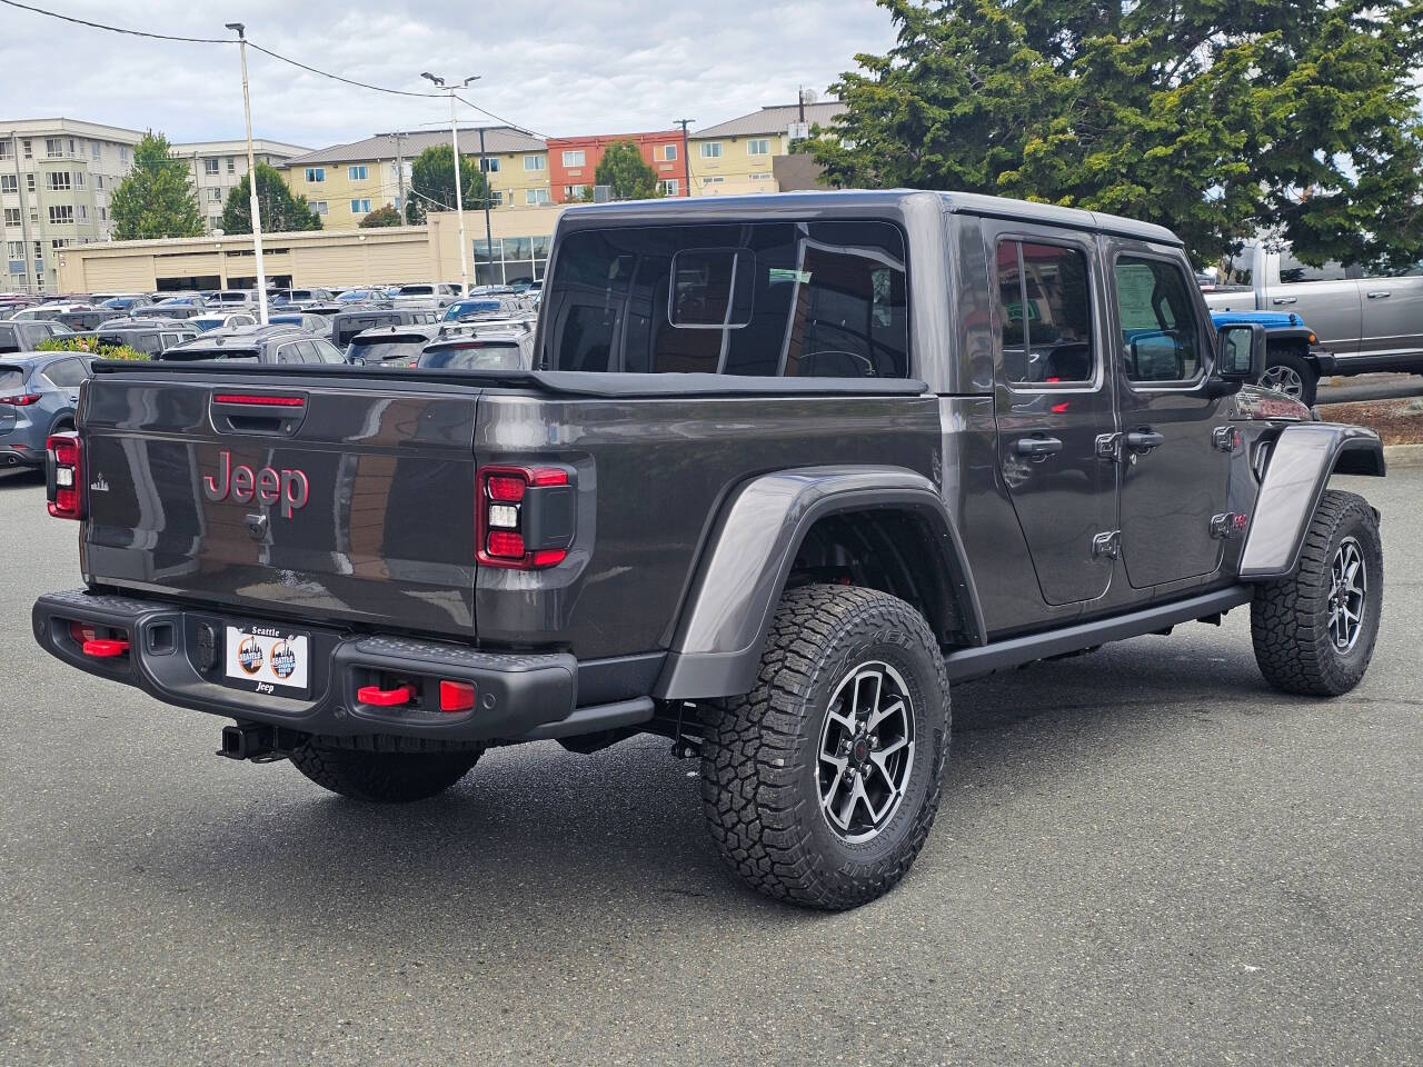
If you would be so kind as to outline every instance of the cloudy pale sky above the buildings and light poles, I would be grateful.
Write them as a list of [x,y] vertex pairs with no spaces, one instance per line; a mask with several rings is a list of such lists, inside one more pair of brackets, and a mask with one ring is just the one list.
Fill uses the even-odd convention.
[[[26,0],[155,33],[252,41],[359,81],[424,90],[420,71],[480,74],[467,100],[546,135],[666,129],[788,104],[885,51],[872,0]],[[0,121],[65,115],[172,141],[242,135],[235,48],[125,37],[0,6]],[[253,134],[310,148],[448,121],[443,100],[342,85],[249,51]],[[480,117],[461,108],[461,120]],[[488,121],[488,120],[485,120]]]

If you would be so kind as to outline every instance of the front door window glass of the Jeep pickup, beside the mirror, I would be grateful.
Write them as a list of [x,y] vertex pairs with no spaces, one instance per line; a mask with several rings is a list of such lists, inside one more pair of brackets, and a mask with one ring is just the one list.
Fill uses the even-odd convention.
[[1121,256],[1114,270],[1121,359],[1131,381],[1192,381],[1201,374],[1195,304],[1175,263]]

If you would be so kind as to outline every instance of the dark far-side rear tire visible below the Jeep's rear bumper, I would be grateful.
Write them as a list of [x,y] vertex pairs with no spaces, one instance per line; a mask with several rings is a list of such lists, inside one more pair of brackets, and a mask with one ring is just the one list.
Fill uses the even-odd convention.
[[292,764],[323,790],[374,804],[406,804],[444,792],[470,773],[480,750],[386,753],[303,744]]

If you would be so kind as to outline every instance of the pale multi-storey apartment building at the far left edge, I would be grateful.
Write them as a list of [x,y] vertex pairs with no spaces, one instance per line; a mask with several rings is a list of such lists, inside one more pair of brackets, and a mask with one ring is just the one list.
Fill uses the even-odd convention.
[[0,121],[0,290],[53,293],[61,248],[110,239],[108,198],[141,137],[73,118]]

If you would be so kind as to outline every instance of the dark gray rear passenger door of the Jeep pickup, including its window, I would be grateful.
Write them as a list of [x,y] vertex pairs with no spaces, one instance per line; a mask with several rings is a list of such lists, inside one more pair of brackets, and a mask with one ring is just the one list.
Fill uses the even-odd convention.
[[1050,605],[1107,592],[1117,472],[1103,360],[1103,286],[1086,236],[1053,229],[989,230],[999,364],[999,471]]

